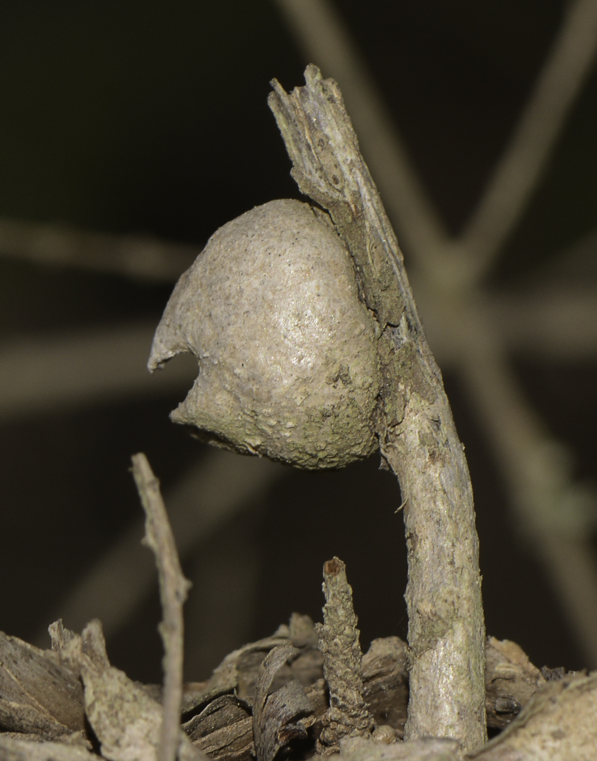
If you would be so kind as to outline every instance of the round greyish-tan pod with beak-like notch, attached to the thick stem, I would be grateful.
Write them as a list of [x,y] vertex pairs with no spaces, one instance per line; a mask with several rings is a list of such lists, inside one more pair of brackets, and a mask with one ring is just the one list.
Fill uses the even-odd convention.
[[375,322],[329,217],[278,200],[224,224],[179,279],[149,368],[193,352],[172,413],[212,443],[306,468],[376,449]]

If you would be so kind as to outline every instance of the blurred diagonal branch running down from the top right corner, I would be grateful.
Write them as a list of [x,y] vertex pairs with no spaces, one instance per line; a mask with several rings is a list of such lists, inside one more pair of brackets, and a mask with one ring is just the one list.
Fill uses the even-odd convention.
[[597,2],[576,0],[565,11],[551,53],[510,144],[468,221],[459,245],[479,278],[491,266],[529,199],[597,52]]

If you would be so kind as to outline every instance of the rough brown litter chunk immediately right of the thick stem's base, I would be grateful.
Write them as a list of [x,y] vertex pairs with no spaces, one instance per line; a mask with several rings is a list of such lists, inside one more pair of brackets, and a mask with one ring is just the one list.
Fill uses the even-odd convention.
[[485,644],[487,726],[503,729],[529,702],[544,677],[516,642],[487,637]]

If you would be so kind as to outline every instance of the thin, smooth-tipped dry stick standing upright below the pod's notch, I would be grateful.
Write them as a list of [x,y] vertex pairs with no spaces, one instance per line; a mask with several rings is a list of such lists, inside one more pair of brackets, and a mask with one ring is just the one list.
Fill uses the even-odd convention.
[[183,603],[190,583],[180,568],[176,543],[160,494],[160,482],[142,452],[132,456],[132,473],[145,511],[144,543],[155,555],[164,612],[164,620],[159,627],[164,641],[164,718],[157,759],[176,761],[180,744],[180,707],[183,702]]

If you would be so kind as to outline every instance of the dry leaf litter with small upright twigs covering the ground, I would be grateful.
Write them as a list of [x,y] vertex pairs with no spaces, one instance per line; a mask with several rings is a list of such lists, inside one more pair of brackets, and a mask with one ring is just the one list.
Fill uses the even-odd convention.
[[[183,685],[180,570],[159,484],[142,454],[133,475],[156,556],[164,620],[164,686],[110,665],[101,623],[81,635],[49,626],[51,650],[0,632],[0,761],[274,761],[340,754],[347,761],[455,761],[456,740],[402,741],[408,647],[398,637],[362,654],[345,565],[325,563],[324,622],[294,613],[271,637]],[[533,666],[514,642],[487,638],[487,726],[480,761],[597,758],[597,673]]]

